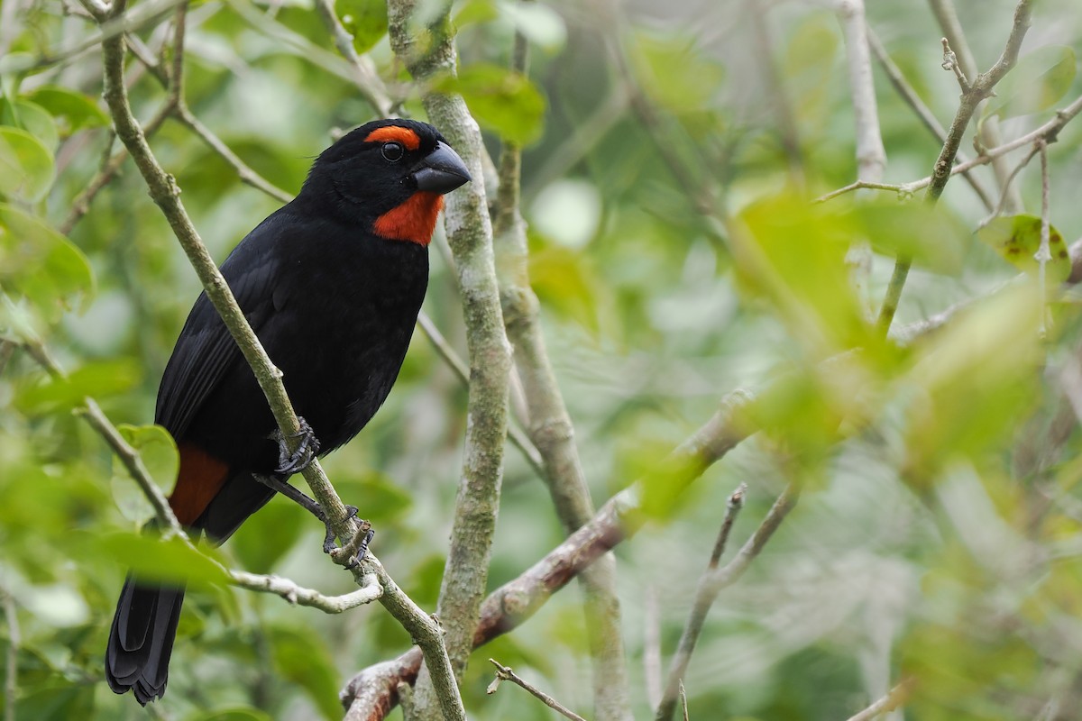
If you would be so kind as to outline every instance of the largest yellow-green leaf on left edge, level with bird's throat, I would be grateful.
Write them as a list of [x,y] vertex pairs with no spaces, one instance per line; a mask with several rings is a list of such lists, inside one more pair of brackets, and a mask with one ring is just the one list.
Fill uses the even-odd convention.
[[82,251],[67,238],[0,203],[0,285],[55,319],[71,299],[93,296],[94,276]]

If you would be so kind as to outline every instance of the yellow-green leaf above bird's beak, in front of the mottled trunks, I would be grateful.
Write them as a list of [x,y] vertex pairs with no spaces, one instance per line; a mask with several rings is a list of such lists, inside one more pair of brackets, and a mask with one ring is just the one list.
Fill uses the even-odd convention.
[[477,122],[505,141],[527,145],[541,135],[544,96],[518,72],[497,65],[471,65],[457,78],[436,80],[433,90],[461,94]]

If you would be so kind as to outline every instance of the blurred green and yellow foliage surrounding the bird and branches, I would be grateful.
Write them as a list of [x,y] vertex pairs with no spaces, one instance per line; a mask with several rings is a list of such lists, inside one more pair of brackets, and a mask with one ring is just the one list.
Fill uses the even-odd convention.
[[[986,70],[1003,50],[1014,3],[955,4]],[[422,3],[419,12],[436,10]],[[404,99],[403,114],[423,118],[420,90],[390,51],[384,3],[343,0],[338,13]],[[868,191],[815,206],[821,213],[810,209],[809,199],[857,177],[834,3],[466,0],[453,16],[460,88],[489,152],[499,157],[501,138],[527,143],[530,275],[595,503],[657,468],[725,393],[788,379],[760,409],[766,432],[682,494],[663,483],[648,489],[647,526],[616,551],[636,718],[652,717],[654,679],[664,678],[656,644],[667,671],[726,498],[740,482],[748,503],[726,558],[788,483],[804,493],[709,616],[684,681],[691,719],[845,719],[905,676],[920,683],[896,720],[1079,718],[1076,303],[1068,291],[1045,304],[1034,283],[1016,282],[905,347],[872,337],[868,319],[899,248],[916,262],[896,329],[988,296],[1019,269],[974,235],[990,209],[959,176],[934,217],[906,210],[922,191],[908,205],[896,193]],[[168,48],[169,18],[160,14],[134,34],[151,57]],[[929,5],[869,3],[868,24],[949,125],[959,85],[940,66],[944,30]],[[530,44],[528,84],[498,69],[509,64],[516,29]],[[72,374],[69,384],[49,383],[23,350],[0,374],[8,611],[0,650],[16,636],[15,614],[17,718],[340,718],[343,683],[409,647],[379,606],[326,616],[274,597],[197,588],[163,702],[143,710],[102,681],[124,573],[108,538],[134,532],[147,512],[101,438],[70,411],[90,395],[115,423],[149,423],[200,286],[130,162],[85,215],[72,216],[103,153],[118,147],[100,99],[96,48],[56,62],[94,31],[74,3],[0,4],[0,164],[22,178],[0,181],[0,286],[12,299],[5,334],[32,326]],[[1019,66],[1012,92],[1035,88],[1039,97],[990,117],[1004,139],[1079,96],[1080,37],[1077,0],[1037,4],[1022,49],[1037,58]],[[193,3],[185,50],[190,111],[289,193],[337,133],[373,117],[306,0]],[[137,61],[128,77],[135,114],[147,121],[164,90]],[[918,181],[941,143],[879,64],[874,83],[883,181]],[[969,157],[971,135],[962,144]],[[1061,238],[1054,250],[1082,236],[1080,141],[1076,121],[1048,146],[1051,221]],[[151,145],[219,262],[280,205],[174,120]],[[1008,169],[1028,152],[1011,155]],[[975,176],[994,204],[992,171]],[[1040,215],[1039,159],[1014,187],[1006,212]],[[34,224],[66,232],[77,252]],[[1024,236],[1014,238],[1032,242]],[[19,255],[29,237],[52,250]],[[844,258],[862,239],[872,243],[870,269],[850,292]],[[424,309],[464,356],[441,230],[431,255]],[[1063,270],[1050,271],[1053,281]],[[857,360],[823,371],[820,361],[855,346],[865,348]],[[325,466],[343,499],[378,530],[373,549],[391,574],[430,610],[448,546],[465,402],[464,386],[418,332],[384,409]],[[168,448],[147,441],[146,452],[164,454],[168,467]],[[543,483],[509,446],[491,588],[560,542],[550,508]],[[321,558],[321,536],[305,511],[277,498],[221,552],[235,568],[346,592],[347,575]],[[474,655],[463,686],[471,718],[552,718],[519,690],[486,696],[489,656],[590,715],[580,604],[570,585]]]

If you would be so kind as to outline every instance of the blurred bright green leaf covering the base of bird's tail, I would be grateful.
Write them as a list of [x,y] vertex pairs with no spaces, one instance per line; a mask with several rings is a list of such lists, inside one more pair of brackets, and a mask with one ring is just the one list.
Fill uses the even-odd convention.
[[141,578],[200,587],[229,583],[222,566],[181,538],[163,539],[145,533],[87,535],[83,552],[113,559]]

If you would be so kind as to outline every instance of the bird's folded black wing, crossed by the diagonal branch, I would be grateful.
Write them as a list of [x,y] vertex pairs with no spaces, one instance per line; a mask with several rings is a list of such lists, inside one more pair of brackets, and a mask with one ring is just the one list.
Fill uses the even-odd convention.
[[[268,251],[289,235],[290,225],[288,217],[272,215],[222,265],[222,275],[255,332],[274,312],[275,279],[281,261],[279,253]],[[207,397],[234,364],[242,362],[240,348],[207,293],[201,293],[166,365],[155,423],[164,426],[173,438],[183,439]]]

